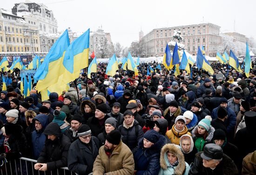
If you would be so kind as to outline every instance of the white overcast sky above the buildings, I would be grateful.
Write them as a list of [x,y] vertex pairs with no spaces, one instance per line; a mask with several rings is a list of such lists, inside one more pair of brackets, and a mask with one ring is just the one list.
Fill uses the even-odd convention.
[[[130,46],[158,27],[193,25],[209,22],[221,31],[236,31],[256,38],[256,0],[31,0],[44,3],[54,12],[58,30],[96,31],[102,25],[113,43]],[[14,3],[6,0],[0,8],[11,11]]]

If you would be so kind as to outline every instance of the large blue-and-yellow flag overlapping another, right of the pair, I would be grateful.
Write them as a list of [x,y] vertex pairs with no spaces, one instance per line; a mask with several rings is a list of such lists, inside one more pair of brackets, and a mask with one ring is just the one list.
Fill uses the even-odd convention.
[[88,67],[89,61],[89,40],[90,29],[74,40],[67,48],[63,59],[62,84],[74,81],[81,72],[81,69]]

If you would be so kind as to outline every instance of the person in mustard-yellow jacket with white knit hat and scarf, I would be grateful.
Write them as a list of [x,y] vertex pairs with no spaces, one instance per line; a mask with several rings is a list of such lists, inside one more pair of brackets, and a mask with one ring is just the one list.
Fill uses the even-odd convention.
[[172,129],[166,132],[166,136],[170,139],[172,144],[180,144],[180,137],[182,135],[191,135],[186,126],[186,119],[179,115],[175,119],[175,124],[172,126]]

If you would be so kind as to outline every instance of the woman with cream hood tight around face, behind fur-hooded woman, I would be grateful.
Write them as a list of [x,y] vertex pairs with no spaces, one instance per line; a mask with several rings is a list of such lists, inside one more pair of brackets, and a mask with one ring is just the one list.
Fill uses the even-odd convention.
[[195,160],[195,154],[197,153],[197,149],[194,146],[193,138],[185,134],[180,139],[180,147],[182,150],[182,153],[184,155],[185,161],[191,165],[191,163]]

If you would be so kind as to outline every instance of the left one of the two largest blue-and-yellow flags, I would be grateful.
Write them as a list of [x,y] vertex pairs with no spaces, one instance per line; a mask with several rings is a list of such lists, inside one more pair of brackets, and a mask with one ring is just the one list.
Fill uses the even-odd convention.
[[66,30],[54,43],[34,75],[34,79],[38,81],[36,86],[38,92],[58,82],[59,76],[63,74],[61,67],[68,46],[69,38]]

